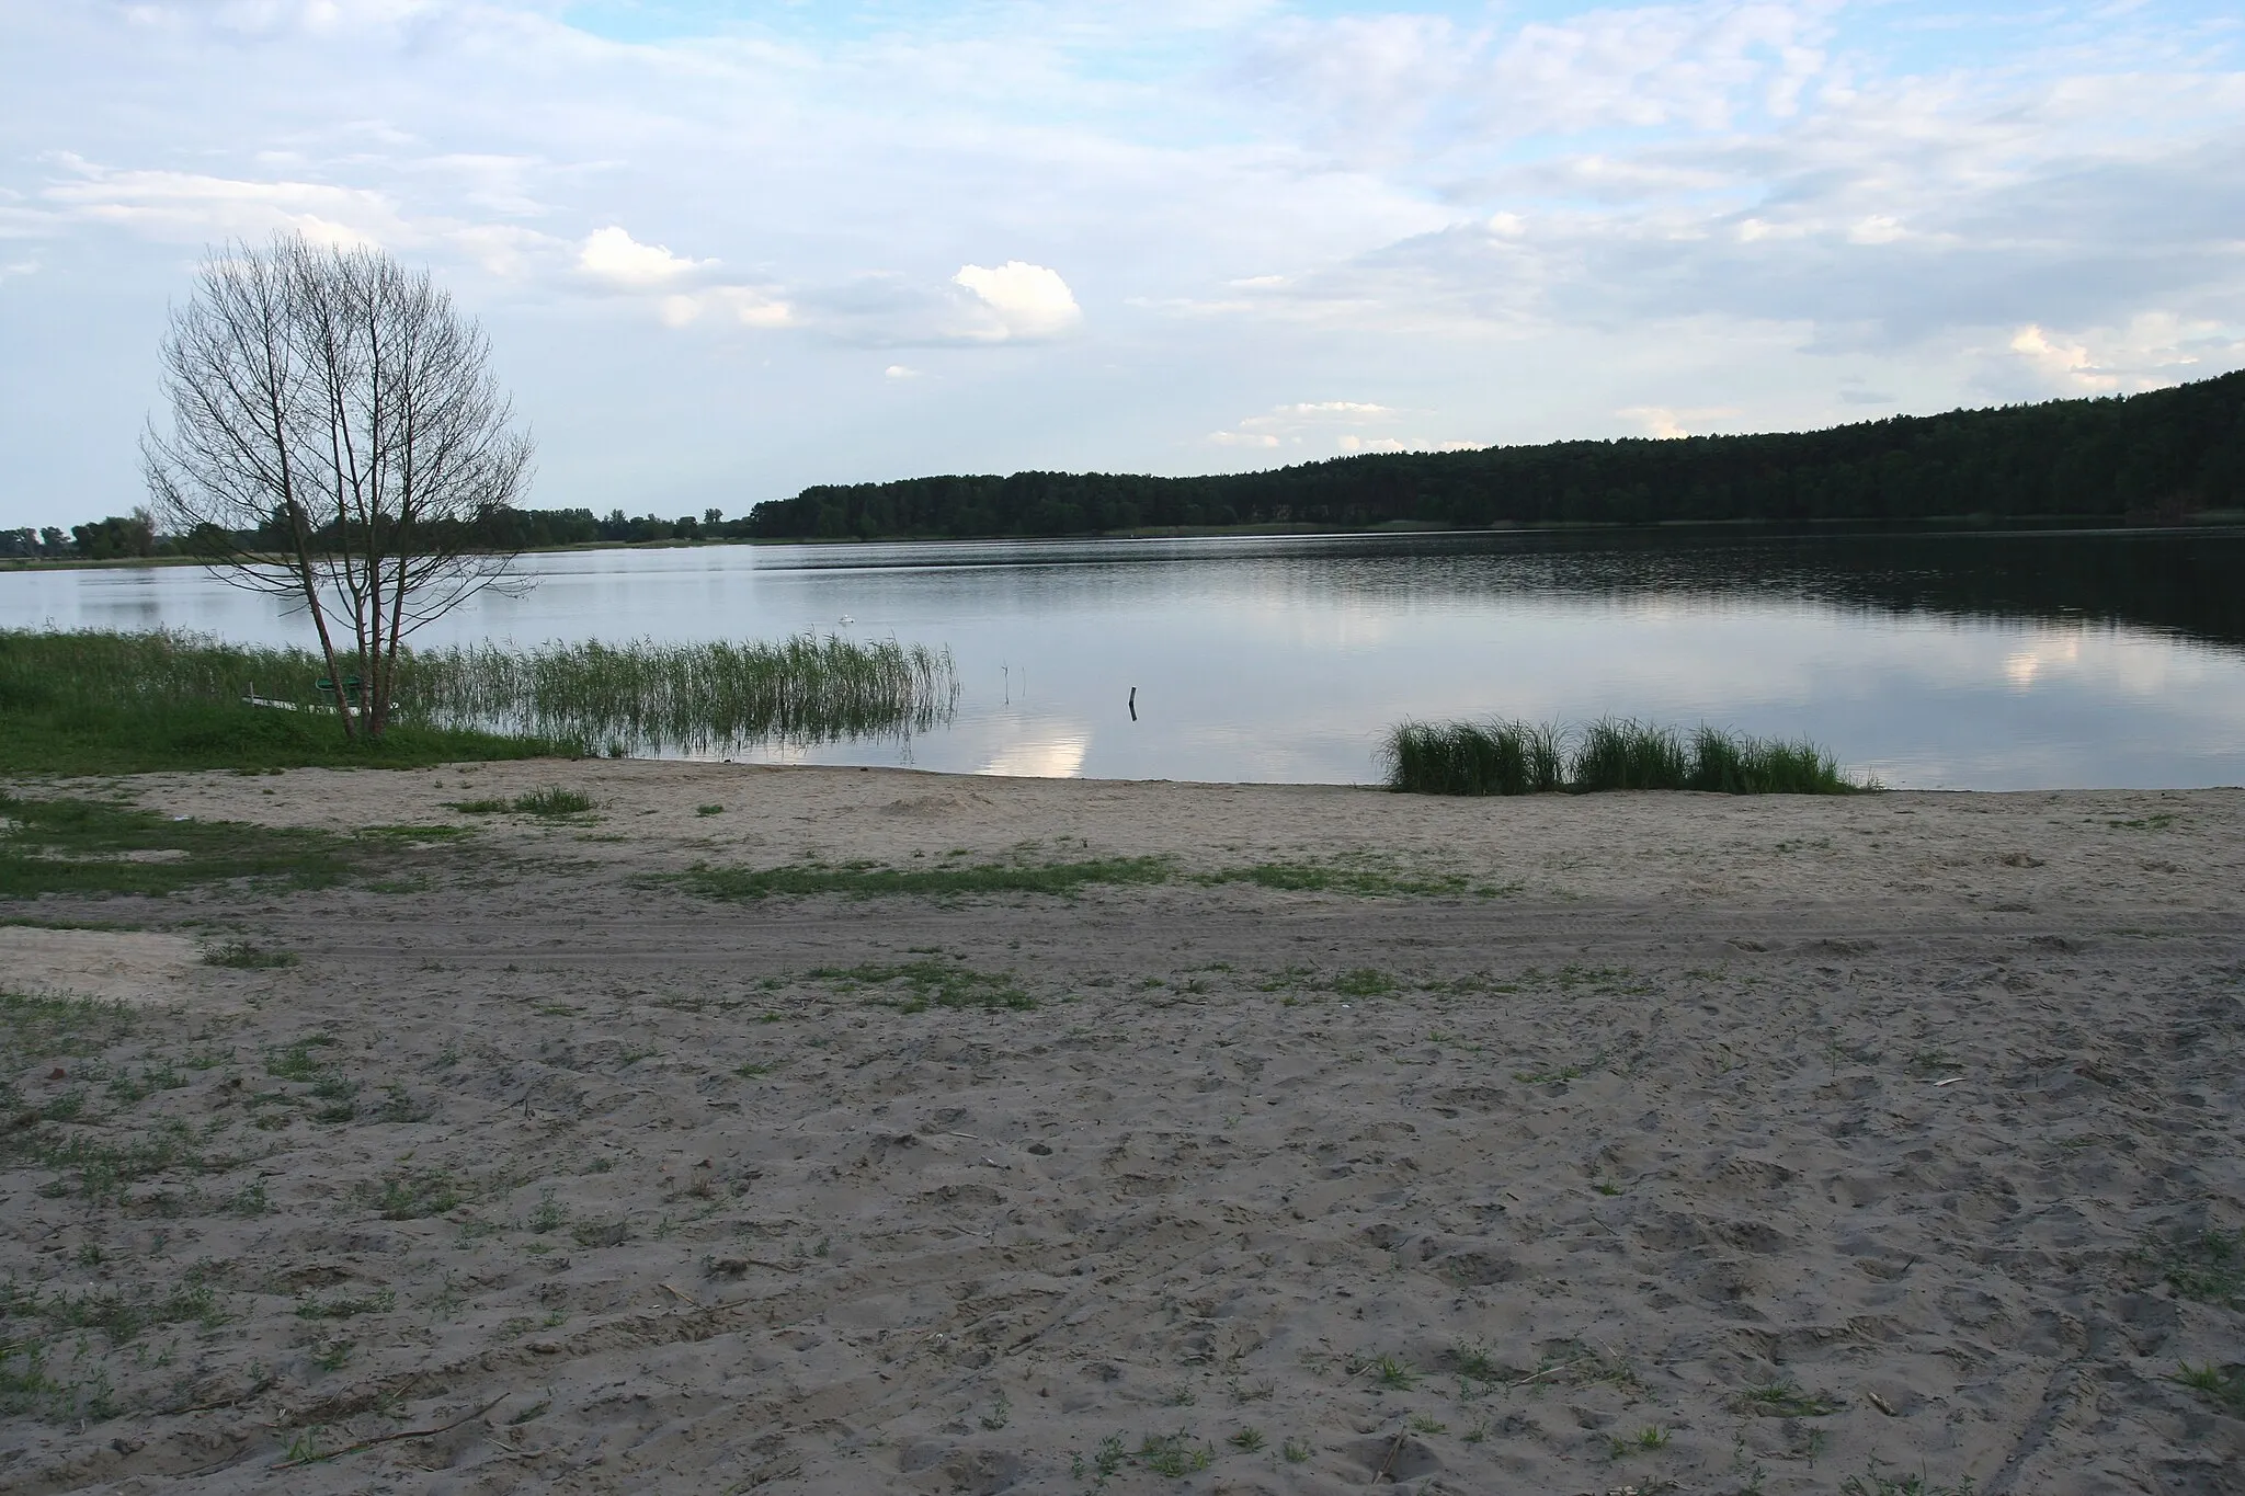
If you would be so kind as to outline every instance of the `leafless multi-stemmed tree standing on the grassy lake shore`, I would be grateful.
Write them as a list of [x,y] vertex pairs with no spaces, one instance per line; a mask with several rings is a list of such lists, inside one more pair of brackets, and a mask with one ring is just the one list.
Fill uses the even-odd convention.
[[162,527],[296,601],[346,736],[379,738],[404,639],[512,585],[492,518],[528,489],[532,446],[489,341],[429,271],[285,233],[204,256],[162,357],[171,431],[141,437]]

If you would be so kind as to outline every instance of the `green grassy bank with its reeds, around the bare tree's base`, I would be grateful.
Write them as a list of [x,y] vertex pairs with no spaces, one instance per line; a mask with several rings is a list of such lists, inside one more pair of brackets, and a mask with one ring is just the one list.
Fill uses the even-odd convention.
[[925,729],[956,695],[947,653],[894,641],[447,648],[402,662],[400,718],[361,742],[323,707],[321,675],[301,648],[0,630],[0,769],[422,767],[826,742]]

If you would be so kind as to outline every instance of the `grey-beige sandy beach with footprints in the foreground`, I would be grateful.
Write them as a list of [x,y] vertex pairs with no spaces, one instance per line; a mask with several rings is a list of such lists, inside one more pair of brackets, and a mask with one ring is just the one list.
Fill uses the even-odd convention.
[[[447,810],[537,785],[597,814]],[[79,1388],[9,1404],[7,1492],[2245,1489],[2173,1379],[2245,1361],[2245,792],[117,789],[478,830],[0,911],[175,942],[0,931],[0,987],[141,1003],[0,1077],[4,1337]],[[667,877],[947,855],[1181,877]],[[1190,879],[1271,864],[1453,893]],[[106,1191],[20,1142],[166,1135]],[[56,1328],[103,1294],[173,1321]]]

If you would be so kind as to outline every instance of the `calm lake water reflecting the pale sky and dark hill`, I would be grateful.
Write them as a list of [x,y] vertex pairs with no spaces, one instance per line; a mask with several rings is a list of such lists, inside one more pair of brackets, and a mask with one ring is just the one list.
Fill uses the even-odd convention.
[[[1401,718],[1637,715],[1807,736],[1897,787],[2245,783],[2245,529],[707,545],[523,570],[523,597],[422,639],[952,650],[947,727],[736,754],[763,763],[1360,783]],[[193,567],[0,572],[0,626],[308,641]]]

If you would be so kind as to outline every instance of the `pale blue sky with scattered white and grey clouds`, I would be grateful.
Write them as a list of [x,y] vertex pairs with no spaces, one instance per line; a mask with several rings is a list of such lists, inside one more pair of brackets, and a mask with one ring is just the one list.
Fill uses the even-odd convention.
[[1789,431],[2245,366],[2234,4],[0,0],[0,525],[141,502],[274,231],[528,502]]

